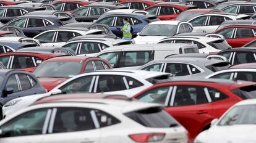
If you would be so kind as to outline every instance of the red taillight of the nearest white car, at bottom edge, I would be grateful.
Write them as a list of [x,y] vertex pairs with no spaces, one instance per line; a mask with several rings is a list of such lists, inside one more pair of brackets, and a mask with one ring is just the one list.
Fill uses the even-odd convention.
[[129,137],[135,142],[156,142],[162,141],[164,133],[130,134]]

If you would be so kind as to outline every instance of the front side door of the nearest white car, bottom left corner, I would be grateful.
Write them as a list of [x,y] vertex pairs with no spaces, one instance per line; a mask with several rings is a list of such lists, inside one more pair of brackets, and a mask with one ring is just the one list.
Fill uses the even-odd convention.
[[41,108],[22,113],[9,121],[5,121],[0,129],[0,142],[38,142],[42,143],[51,109]]

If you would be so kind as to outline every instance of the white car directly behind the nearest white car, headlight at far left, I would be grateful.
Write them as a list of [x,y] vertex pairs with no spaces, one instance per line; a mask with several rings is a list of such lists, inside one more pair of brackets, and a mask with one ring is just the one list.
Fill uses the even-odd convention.
[[74,76],[59,84],[46,94],[20,97],[2,107],[2,115],[9,116],[21,108],[26,108],[41,97],[61,93],[93,92],[119,94],[132,97],[138,92],[158,83],[157,78],[168,79],[169,73],[142,70],[104,70]]

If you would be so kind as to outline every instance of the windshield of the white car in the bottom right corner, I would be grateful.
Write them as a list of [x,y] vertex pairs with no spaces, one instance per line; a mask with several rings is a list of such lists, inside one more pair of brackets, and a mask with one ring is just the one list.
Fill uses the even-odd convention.
[[256,105],[241,105],[229,110],[218,126],[256,124]]

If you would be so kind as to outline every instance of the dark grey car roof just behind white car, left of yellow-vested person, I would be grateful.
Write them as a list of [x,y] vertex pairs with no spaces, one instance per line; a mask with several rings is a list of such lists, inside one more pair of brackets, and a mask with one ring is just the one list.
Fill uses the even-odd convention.
[[[108,25],[101,24],[101,23],[93,23],[93,22],[79,22],[79,23],[69,23],[66,25],[63,25],[61,28],[78,28],[78,29],[83,29],[86,28],[87,30],[101,30],[103,31],[103,34],[105,35],[114,35]],[[96,33],[95,33],[96,34]]]

